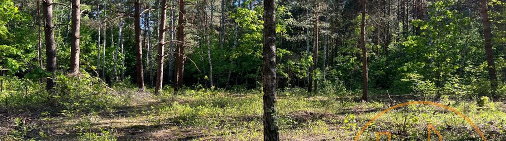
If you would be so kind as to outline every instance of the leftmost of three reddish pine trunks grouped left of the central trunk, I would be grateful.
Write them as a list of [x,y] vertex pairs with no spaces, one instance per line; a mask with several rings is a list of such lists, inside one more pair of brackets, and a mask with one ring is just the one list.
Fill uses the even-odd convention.
[[134,28],[135,28],[135,48],[136,48],[136,67],[137,67],[137,87],[144,91],[144,72],[142,66],[142,40],[141,40],[141,0],[134,1]]

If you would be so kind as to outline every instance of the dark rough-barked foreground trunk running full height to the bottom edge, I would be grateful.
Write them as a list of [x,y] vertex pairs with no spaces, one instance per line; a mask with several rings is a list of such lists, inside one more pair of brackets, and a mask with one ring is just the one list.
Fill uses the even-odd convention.
[[264,140],[279,140],[276,122],[276,2],[264,1]]

